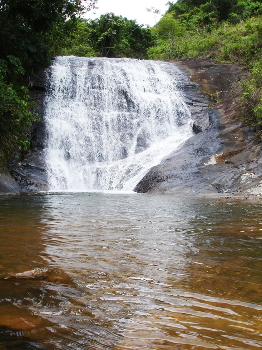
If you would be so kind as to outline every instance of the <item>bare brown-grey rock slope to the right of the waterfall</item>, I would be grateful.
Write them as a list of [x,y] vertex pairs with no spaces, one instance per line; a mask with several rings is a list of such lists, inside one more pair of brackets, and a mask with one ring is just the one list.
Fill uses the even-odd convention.
[[[173,62],[189,71],[192,84],[201,84],[198,88],[193,87],[191,94],[196,135],[151,168],[135,191],[204,197],[256,195],[262,198],[261,145],[254,133],[237,118],[237,89],[230,92],[234,81],[245,73],[236,65],[218,65],[211,59]],[[205,109],[198,109],[198,99],[194,98],[201,89],[215,93],[221,99],[208,112],[210,126],[196,118],[198,113],[206,113]]]

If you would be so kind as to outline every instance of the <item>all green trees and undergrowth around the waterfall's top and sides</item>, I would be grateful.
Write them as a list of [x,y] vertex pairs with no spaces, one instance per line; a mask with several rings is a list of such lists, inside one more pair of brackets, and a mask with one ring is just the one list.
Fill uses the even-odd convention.
[[[97,0],[88,0],[92,8]],[[26,126],[37,118],[28,97],[31,73],[52,55],[173,59],[208,56],[238,63],[242,114],[262,128],[261,0],[178,0],[153,28],[107,13],[80,18],[80,0],[0,0],[0,165],[28,149]]]

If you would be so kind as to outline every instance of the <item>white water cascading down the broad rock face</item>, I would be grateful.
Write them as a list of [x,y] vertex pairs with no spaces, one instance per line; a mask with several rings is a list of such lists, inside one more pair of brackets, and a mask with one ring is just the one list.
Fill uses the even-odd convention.
[[192,135],[178,68],[56,57],[45,98],[50,190],[133,190]]

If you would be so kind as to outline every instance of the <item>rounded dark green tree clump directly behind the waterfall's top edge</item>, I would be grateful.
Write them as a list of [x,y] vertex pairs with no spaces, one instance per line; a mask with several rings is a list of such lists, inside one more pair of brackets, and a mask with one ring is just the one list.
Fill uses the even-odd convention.
[[150,29],[113,13],[92,21],[66,21],[60,29],[55,54],[146,58],[146,49],[152,44]]

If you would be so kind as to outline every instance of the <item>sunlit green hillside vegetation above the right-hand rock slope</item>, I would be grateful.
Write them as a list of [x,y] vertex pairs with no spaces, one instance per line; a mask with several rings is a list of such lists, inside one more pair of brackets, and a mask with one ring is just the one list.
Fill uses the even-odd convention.
[[150,59],[209,56],[237,63],[249,77],[241,82],[241,117],[262,130],[262,3],[252,0],[178,0],[152,28]]

